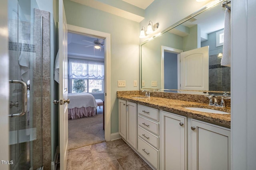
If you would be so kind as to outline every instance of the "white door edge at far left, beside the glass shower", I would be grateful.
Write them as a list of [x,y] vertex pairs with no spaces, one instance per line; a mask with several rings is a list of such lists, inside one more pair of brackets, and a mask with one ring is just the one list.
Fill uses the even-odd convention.
[[[9,57],[8,57],[8,25],[7,25],[7,9],[8,1],[1,1],[0,5],[0,160],[10,161],[9,158]],[[0,162],[1,170],[8,170],[10,166]]]

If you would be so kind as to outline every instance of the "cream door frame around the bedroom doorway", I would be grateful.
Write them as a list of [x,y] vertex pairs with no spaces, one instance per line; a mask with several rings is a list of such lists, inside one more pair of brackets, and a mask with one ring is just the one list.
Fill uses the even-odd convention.
[[111,140],[111,112],[110,112],[110,33],[104,33],[92,29],[87,29],[83,27],[78,27],[74,25],[68,24],[68,31],[72,31],[75,33],[81,33],[81,34],[87,34],[87,35],[93,35],[96,37],[102,37],[105,38],[105,44],[104,44],[104,52],[105,52],[105,85],[104,85],[104,99],[105,99],[105,140],[110,141]]

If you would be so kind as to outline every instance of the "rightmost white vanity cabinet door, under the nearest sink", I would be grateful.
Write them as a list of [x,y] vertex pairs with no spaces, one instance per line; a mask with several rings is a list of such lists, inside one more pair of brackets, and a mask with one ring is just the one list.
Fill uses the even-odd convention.
[[192,119],[190,133],[192,170],[231,169],[229,129]]

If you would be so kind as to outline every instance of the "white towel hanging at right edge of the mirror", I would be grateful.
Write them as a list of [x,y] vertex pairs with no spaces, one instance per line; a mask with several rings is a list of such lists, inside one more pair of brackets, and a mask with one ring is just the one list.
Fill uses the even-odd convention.
[[223,42],[223,57],[220,65],[230,67],[230,47],[231,47],[231,34],[230,34],[230,10],[225,10],[225,23],[224,23],[224,42]]

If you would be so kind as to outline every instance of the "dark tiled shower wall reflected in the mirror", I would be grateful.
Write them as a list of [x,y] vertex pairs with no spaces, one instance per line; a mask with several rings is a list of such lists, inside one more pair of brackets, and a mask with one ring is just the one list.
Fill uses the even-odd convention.
[[218,54],[209,56],[209,90],[230,92],[230,67],[220,65]]

